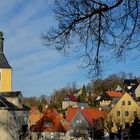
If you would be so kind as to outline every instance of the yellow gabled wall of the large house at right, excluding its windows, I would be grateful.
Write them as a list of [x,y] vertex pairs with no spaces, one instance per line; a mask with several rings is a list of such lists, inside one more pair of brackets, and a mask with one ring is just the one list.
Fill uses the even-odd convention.
[[[123,101],[125,101],[125,105],[122,105]],[[131,105],[128,105],[128,101],[131,102]],[[120,111],[120,116],[117,115],[117,111]],[[125,115],[125,111],[129,112],[128,116]],[[125,128],[125,123],[129,123],[131,125],[135,118],[134,111],[137,112],[137,116],[140,118],[140,107],[128,93],[125,93],[114,108],[107,114],[105,126],[107,127],[107,125],[112,122],[113,126],[111,131],[116,132],[117,123],[119,123],[122,128]]]

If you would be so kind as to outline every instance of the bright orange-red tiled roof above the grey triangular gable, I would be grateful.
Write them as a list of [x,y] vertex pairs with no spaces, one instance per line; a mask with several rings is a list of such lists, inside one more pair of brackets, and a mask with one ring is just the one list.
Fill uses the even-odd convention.
[[78,111],[82,113],[87,122],[90,124],[92,124],[93,120],[104,118],[106,116],[106,112],[100,111],[98,108],[69,108],[66,113],[66,121],[70,123]]

